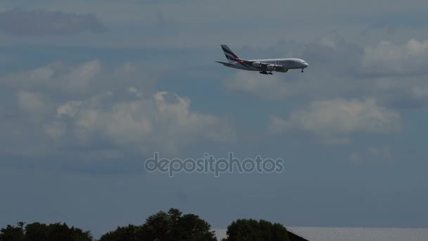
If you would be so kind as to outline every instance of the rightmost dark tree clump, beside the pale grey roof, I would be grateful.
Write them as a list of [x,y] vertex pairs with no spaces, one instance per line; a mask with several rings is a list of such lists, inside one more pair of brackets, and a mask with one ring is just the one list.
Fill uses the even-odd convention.
[[227,227],[227,238],[223,241],[289,241],[287,229],[279,223],[238,219]]

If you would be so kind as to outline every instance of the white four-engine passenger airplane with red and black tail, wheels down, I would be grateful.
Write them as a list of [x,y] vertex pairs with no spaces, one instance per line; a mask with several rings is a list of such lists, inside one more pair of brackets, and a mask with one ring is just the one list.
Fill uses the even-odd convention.
[[308,63],[301,58],[271,58],[271,59],[253,59],[245,60],[239,58],[232,49],[229,49],[227,45],[221,45],[223,52],[227,58],[227,62],[215,61],[215,63],[221,63],[223,66],[230,68],[239,68],[241,70],[259,71],[263,75],[273,75],[272,71],[287,73],[291,69],[303,69],[308,68]]

